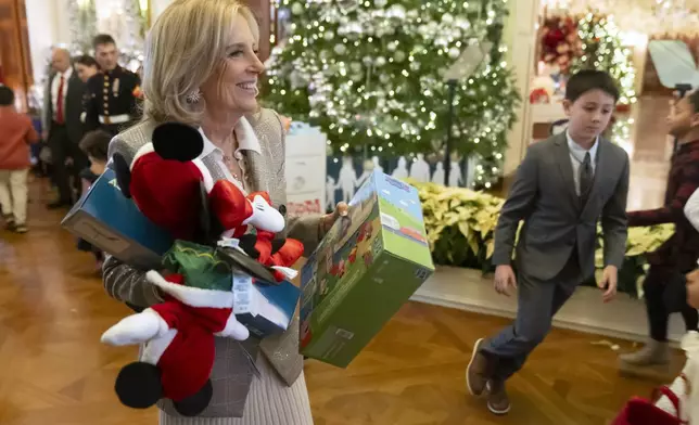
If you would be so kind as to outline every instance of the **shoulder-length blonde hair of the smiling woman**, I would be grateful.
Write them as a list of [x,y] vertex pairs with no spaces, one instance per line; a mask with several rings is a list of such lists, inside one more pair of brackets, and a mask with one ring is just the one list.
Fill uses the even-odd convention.
[[190,104],[187,95],[225,66],[238,15],[245,18],[258,42],[255,16],[239,0],[175,0],[163,11],[145,40],[144,119],[200,124],[204,101]]

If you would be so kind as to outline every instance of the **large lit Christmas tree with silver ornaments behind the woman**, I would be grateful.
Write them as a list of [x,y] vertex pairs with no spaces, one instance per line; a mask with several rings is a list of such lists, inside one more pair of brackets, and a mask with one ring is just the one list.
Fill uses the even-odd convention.
[[507,0],[281,1],[291,35],[272,50],[263,99],[320,126],[334,153],[439,153],[442,74],[470,43],[490,41],[484,63],[458,83],[453,134],[460,155],[479,158],[476,183],[499,176],[519,102],[501,44]]

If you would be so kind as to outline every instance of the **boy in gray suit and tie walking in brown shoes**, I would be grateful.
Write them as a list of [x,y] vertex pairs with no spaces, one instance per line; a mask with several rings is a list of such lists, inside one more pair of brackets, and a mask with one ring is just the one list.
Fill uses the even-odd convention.
[[[563,107],[568,130],[532,145],[519,166],[495,230],[495,291],[518,289],[516,322],[479,339],[467,369],[474,396],[487,394],[487,408],[506,414],[505,382],[551,327],[554,314],[595,272],[595,242],[601,219],[605,245],[602,300],[617,293],[617,273],[626,248],[628,156],[600,137],[619,100],[614,80],[601,70],[570,78]],[[510,266],[516,247],[518,275]]]

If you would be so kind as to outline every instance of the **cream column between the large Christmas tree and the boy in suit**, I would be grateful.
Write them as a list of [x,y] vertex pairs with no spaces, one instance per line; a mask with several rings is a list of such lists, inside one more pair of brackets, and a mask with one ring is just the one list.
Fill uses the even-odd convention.
[[541,0],[510,0],[510,15],[505,28],[508,63],[517,78],[517,90],[522,103],[516,110],[517,123],[508,134],[508,149],[505,152],[504,175],[511,175],[522,162],[526,146],[532,138],[530,118],[529,88],[534,77],[536,53],[536,24]]

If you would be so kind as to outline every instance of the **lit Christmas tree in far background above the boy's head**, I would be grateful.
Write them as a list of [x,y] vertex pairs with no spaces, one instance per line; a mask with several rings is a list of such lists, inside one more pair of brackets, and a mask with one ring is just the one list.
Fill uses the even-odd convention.
[[588,13],[577,24],[583,54],[571,65],[571,72],[595,68],[608,72],[619,83],[619,103],[636,102],[634,79],[636,70],[632,64],[631,51],[622,44],[621,31],[611,16]]

